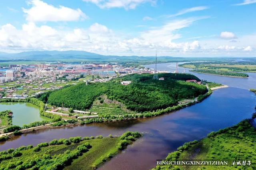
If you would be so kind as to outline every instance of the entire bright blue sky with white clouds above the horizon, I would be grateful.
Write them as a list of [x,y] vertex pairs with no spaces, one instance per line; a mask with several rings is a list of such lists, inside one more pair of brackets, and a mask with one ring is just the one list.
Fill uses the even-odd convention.
[[256,0],[1,0],[0,51],[256,57]]

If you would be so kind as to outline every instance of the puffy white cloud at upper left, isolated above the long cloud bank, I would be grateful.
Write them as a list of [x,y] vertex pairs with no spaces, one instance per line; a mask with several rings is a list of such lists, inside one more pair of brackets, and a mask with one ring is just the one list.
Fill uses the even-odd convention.
[[54,7],[41,0],[30,0],[30,9],[23,9],[26,20],[37,21],[77,21],[88,18],[79,8],[74,10],[65,6]]

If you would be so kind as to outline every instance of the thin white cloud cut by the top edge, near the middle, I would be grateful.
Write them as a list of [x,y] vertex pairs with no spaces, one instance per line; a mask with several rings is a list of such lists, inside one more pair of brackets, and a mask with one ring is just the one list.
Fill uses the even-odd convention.
[[138,5],[149,2],[155,5],[157,0],[83,0],[91,2],[100,8],[125,8],[126,10],[135,9]]

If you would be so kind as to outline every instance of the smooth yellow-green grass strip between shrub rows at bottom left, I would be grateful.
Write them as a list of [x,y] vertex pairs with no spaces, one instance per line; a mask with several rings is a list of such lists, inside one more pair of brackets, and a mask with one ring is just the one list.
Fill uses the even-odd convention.
[[78,159],[74,160],[70,166],[67,166],[66,170],[92,170],[98,167],[100,164],[105,162],[104,158],[108,154],[118,153],[116,145],[120,141],[119,138],[103,138],[103,139],[92,139],[90,140],[90,145],[92,148],[80,156]]

